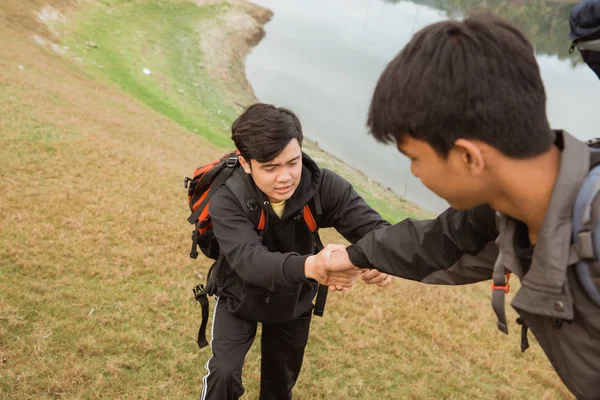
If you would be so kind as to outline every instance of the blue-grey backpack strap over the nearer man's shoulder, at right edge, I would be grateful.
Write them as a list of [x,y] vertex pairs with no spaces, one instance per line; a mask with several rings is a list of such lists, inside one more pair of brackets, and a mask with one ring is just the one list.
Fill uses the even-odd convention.
[[590,149],[590,172],[577,193],[573,210],[573,246],[581,258],[575,265],[577,278],[588,297],[600,307],[600,291],[594,284],[589,264],[600,257],[600,223],[592,220],[592,205],[600,193],[600,151]]

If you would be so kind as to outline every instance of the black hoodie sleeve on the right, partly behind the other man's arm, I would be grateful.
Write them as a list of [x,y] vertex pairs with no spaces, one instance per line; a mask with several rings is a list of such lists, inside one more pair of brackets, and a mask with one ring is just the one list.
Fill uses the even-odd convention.
[[356,243],[367,233],[390,226],[356,193],[350,182],[328,169],[321,172],[320,227],[333,227],[350,243]]

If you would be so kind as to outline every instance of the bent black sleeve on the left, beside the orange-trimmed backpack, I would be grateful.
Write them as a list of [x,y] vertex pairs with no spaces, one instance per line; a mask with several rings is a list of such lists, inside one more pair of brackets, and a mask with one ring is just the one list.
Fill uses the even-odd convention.
[[308,256],[271,252],[263,246],[253,223],[226,186],[212,197],[209,213],[222,254],[244,281],[269,290],[308,282],[304,275]]

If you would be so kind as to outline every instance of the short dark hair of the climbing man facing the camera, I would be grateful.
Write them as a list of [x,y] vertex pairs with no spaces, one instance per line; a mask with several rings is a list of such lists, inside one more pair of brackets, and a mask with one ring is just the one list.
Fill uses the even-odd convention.
[[231,126],[231,139],[248,162],[271,161],[292,139],[302,146],[302,125],[287,108],[256,103],[248,107]]

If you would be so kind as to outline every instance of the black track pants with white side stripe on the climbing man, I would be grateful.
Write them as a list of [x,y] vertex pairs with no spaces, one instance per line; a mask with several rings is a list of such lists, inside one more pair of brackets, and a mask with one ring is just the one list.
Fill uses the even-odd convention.
[[[263,324],[260,399],[292,398],[308,341],[311,313],[289,322]],[[244,393],[242,366],[256,335],[256,322],[232,315],[227,299],[216,301],[212,328],[212,357],[206,363],[201,400],[233,400]]]

